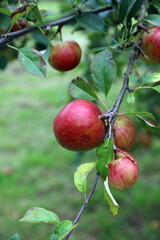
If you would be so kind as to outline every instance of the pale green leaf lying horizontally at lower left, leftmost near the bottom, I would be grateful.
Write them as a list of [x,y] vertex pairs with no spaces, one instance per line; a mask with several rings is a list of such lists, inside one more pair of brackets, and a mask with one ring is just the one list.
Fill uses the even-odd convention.
[[54,212],[39,207],[30,208],[20,221],[30,223],[51,223],[55,225],[60,222],[58,216]]

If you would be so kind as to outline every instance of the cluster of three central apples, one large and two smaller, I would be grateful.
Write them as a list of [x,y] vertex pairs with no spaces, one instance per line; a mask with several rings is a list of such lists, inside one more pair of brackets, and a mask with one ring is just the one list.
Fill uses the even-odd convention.
[[[88,151],[98,147],[105,138],[106,125],[102,112],[89,100],[78,99],[67,104],[56,116],[53,131],[59,144],[72,151]],[[134,144],[136,128],[133,120],[120,114],[114,124],[114,142],[118,149],[108,164],[111,188],[123,190],[138,178],[138,164],[128,151]]]

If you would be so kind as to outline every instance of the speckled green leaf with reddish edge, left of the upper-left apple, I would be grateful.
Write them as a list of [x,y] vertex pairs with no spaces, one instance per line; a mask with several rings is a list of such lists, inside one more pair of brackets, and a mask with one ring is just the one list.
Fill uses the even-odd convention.
[[34,48],[19,49],[18,61],[24,71],[34,76],[46,77],[47,66],[40,52]]

